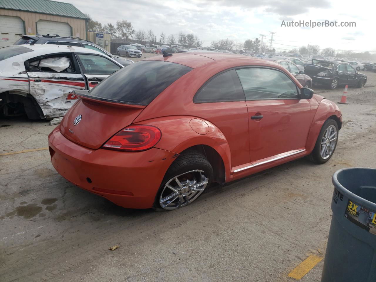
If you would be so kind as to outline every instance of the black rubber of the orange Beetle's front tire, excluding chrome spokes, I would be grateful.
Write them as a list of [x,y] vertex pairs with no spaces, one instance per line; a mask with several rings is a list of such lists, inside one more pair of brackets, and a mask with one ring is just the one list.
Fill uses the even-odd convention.
[[[323,157],[323,155],[321,153],[323,152],[324,139],[326,139],[324,137],[324,134],[326,134],[326,132],[329,128],[334,130],[332,133],[330,133],[331,135],[333,135],[334,132],[336,133],[335,136],[332,137],[332,139],[334,137],[336,137],[335,144],[334,144],[334,146],[331,146],[330,150],[328,149],[328,151],[330,152],[329,156]],[[330,137],[330,136],[327,136],[327,137]],[[335,120],[328,118],[324,122],[323,126],[321,127],[320,133],[318,134],[317,141],[316,141],[314,149],[312,150],[312,153],[310,155],[308,155],[307,158],[309,159],[309,161],[314,162],[316,164],[324,164],[327,161],[329,161],[329,159],[332,158],[334,151],[335,151],[335,148],[337,147],[337,143],[338,143],[338,124]],[[324,154],[326,154],[326,150],[325,150]]]

